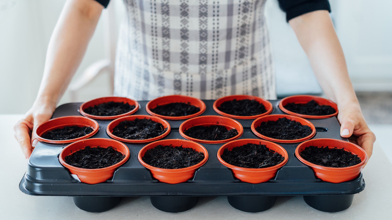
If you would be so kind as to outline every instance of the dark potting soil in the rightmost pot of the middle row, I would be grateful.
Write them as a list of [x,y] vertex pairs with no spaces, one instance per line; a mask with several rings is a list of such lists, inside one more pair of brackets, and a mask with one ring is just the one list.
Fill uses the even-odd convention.
[[256,131],[264,136],[279,140],[296,140],[312,134],[311,127],[301,125],[296,121],[287,118],[280,118],[277,121],[262,122]]

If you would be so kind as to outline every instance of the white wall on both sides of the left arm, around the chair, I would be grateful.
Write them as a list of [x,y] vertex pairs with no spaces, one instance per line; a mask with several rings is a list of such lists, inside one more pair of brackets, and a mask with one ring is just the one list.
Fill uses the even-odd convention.
[[[26,113],[33,104],[49,39],[64,3],[65,0],[0,1],[0,114]],[[89,64],[106,57],[102,23],[99,22],[73,81]],[[81,93],[88,98],[109,95],[108,81],[108,75],[101,75]],[[69,101],[66,92],[60,104]]]

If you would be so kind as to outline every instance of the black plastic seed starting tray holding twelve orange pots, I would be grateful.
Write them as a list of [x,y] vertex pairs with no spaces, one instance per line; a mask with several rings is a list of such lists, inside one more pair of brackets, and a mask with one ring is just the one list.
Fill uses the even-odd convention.
[[[214,100],[204,100],[207,109],[201,116],[219,115],[212,105]],[[270,100],[273,105],[272,114],[284,114],[278,107],[279,100]],[[148,115],[145,109],[147,101],[139,101],[140,109],[134,115]],[[56,108],[52,118],[63,116],[80,116],[78,108],[81,103],[67,103]],[[308,119],[316,127],[313,139],[333,138],[340,136],[340,125],[336,117],[328,119]],[[111,122],[96,120],[100,130],[91,138],[109,138],[106,127]],[[184,139],[178,128],[185,120],[166,120],[171,126],[171,132],[164,139]],[[255,136],[250,126],[253,120],[237,120],[244,128],[240,139]],[[275,178],[251,184],[236,179],[231,170],[222,165],[217,158],[218,149],[223,144],[203,144],[208,150],[209,159],[194,174],[193,179],[178,184],[167,184],[154,179],[149,170],[143,167],[137,155],[145,144],[124,143],[130,150],[129,160],[117,169],[113,179],[99,184],[86,184],[72,178],[63,167],[58,156],[68,144],[49,144],[39,142],[28,162],[28,170],[20,189],[30,195],[74,196],[75,204],[87,211],[105,211],[116,205],[121,196],[150,196],[152,204],[158,209],[178,212],[191,208],[198,196],[228,196],[229,203],[243,211],[262,211],[274,204],[276,196],[303,195],[305,201],[312,207],[322,211],[340,211],[348,208],[355,193],[362,191],[365,182],[360,174],[357,178],[343,182],[330,183],[315,177],[313,170],[301,163],[295,156],[299,143],[282,144],[288,153],[287,163],[278,170]],[[99,202],[101,207],[89,207],[91,201]],[[106,204],[107,203],[107,204]],[[168,204],[181,204],[184,207]]]

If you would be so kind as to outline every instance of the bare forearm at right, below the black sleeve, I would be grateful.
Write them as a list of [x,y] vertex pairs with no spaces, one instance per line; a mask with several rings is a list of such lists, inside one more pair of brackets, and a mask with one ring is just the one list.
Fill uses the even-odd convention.
[[289,21],[306,52],[312,69],[326,95],[339,108],[359,107],[346,61],[327,11],[314,11]]

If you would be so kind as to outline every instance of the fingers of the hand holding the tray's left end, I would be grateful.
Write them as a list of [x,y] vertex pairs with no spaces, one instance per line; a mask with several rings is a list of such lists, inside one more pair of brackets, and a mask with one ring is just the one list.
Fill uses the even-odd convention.
[[14,126],[15,138],[18,141],[26,159],[29,159],[33,152],[30,137],[32,130],[33,124],[26,120],[21,120]]

